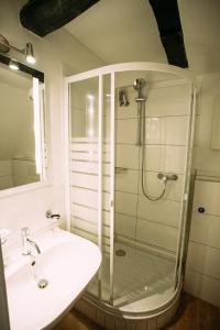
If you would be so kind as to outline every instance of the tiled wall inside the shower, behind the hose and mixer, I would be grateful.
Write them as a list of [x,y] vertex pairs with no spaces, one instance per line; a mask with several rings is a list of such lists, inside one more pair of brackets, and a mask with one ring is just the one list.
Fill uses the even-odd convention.
[[175,173],[177,182],[167,184],[158,201],[147,200],[141,188],[141,147],[136,146],[136,91],[127,88],[129,107],[117,109],[116,233],[174,253],[178,239],[180,200],[186,162],[190,86],[155,84],[146,91],[145,103],[145,187],[158,196],[163,184],[158,172]]

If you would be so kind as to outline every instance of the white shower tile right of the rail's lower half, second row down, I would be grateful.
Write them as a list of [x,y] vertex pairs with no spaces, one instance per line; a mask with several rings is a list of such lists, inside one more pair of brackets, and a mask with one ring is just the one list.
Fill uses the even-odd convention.
[[152,117],[145,120],[147,144],[186,145],[188,117]]

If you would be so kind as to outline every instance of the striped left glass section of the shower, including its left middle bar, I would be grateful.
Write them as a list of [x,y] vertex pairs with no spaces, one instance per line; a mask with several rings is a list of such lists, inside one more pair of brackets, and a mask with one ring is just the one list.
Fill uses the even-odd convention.
[[102,251],[102,267],[87,289],[107,301],[110,300],[110,75],[92,77],[72,82],[68,95],[70,231],[95,242]]

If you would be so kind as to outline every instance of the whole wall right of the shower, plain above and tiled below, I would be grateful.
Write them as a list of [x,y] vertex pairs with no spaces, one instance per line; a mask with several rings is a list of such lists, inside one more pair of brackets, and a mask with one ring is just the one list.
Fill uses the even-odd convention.
[[[220,74],[200,76],[198,81],[194,161],[198,174],[185,289],[220,306],[220,150],[211,150],[212,116],[216,98],[220,95]],[[220,113],[220,109],[218,111]],[[205,213],[198,212],[199,207],[205,208]]]

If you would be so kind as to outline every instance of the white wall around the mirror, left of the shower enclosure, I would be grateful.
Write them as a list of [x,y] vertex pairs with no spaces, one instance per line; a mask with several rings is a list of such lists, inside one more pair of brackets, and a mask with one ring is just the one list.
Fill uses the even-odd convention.
[[[12,45],[23,48],[26,42],[32,42],[37,58],[36,68],[45,73],[48,165],[52,180],[50,187],[0,198],[0,228],[8,228],[12,231],[10,243],[13,240],[20,241],[22,226],[29,226],[31,231],[45,226],[47,209],[65,215],[62,65],[64,63],[68,66],[69,72],[80,72],[100,66],[101,62],[65,31],[54,32],[45,38],[40,38],[25,31],[19,22],[19,7],[15,0],[1,1],[0,22],[1,33]],[[19,58],[16,53],[12,53],[12,55],[14,58]]]

